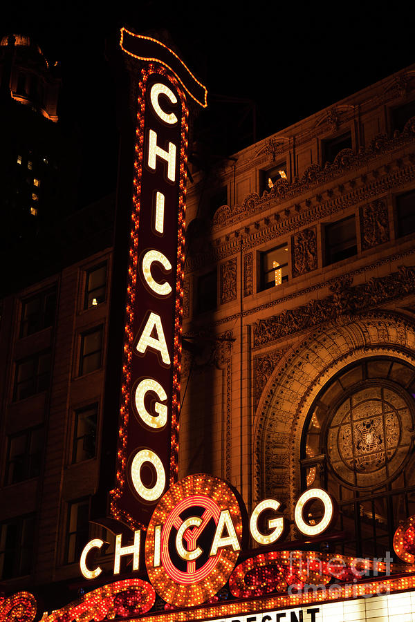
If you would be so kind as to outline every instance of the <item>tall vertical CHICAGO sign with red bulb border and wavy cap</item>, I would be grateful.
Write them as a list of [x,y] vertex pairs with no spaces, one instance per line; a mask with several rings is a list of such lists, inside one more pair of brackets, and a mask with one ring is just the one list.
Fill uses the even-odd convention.
[[177,480],[187,98],[207,91],[160,41],[122,28],[120,46],[142,68],[111,516],[139,529]]

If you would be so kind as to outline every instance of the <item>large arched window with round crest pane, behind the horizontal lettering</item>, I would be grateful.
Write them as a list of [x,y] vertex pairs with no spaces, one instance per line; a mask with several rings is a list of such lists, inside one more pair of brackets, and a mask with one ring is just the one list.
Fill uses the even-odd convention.
[[340,506],[343,554],[383,557],[400,520],[415,514],[415,368],[364,359],[326,384],[302,435],[302,489],[322,487]]

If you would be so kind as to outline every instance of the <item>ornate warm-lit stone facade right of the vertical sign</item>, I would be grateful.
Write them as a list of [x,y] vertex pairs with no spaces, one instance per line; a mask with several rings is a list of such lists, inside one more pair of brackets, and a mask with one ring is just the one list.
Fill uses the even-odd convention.
[[[408,102],[415,102],[415,66],[247,147],[218,169],[228,197],[237,196],[241,183],[252,191],[215,212],[208,252],[187,261],[187,273],[195,279],[208,266],[219,265],[220,282],[216,312],[205,319],[191,315],[185,326],[203,326],[212,334],[233,332],[232,390],[221,424],[228,440],[221,451],[226,476],[248,508],[271,496],[286,502],[290,513],[304,487],[316,480],[324,484],[327,469],[337,478],[335,485],[349,486],[354,494],[364,487],[365,473],[368,478],[380,474],[382,460],[392,464],[394,456],[402,457],[389,480],[412,464],[406,437],[400,444],[409,415],[404,406],[392,408],[398,404],[391,397],[393,377],[371,376],[372,386],[387,388],[378,397],[362,398],[365,407],[356,402],[356,412],[368,408],[370,416],[335,424],[342,442],[333,444],[331,453],[328,444],[313,453],[303,434],[314,401],[331,383],[342,387],[349,404],[366,395],[368,375],[356,380],[354,393],[347,384],[356,361],[366,370],[380,369],[386,360],[391,370],[405,365],[398,374],[409,374],[408,387],[415,382],[415,231],[407,204],[400,204],[400,197],[415,187],[415,117],[409,114],[399,128],[394,126],[400,106],[410,112]],[[332,161],[324,162],[326,145],[335,145],[339,137],[352,148],[331,151]],[[286,179],[264,189],[264,173],[283,160]],[[201,189],[203,175],[195,176],[190,219],[198,213]],[[329,231],[336,232],[333,256]],[[286,259],[274,258],[273,252],[285,248]],[[273,261],[284,263],[284,279],[275,285],[264,279],[277,269]],[[218,399],[228,398],[221,390]],[[339,396],[326,405],[324,438],[330,417],[341,407]],[[355,404],[350,408],[354,417]],[[397,430],[400,440],[393,433]],[[217,464],[220,475],[223,461]],[[347,464],[359,471],[353,486],[342,471]]]

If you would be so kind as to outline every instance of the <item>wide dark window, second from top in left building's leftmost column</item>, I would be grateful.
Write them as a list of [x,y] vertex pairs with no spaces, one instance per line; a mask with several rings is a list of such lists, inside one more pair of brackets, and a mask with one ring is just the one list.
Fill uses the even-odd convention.
[[49,388],[50,357],[50,352],[39,352],[33,357],[17,361],[13,399],[24,399]]

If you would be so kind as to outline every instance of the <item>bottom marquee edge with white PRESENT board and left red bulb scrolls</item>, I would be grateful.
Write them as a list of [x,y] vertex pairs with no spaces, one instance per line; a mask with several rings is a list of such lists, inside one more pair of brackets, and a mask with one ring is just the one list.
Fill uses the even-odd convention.
[[[409,587],[409,589],[408,589]],[[333,590],[316,599],[315,594],[252,599],[248,603],[214,603],[181,612],[148,613],[147,622],[413,622],[415,617],[415,577],[371,581]],[[389,590],[393,592],[389,592]],[[383,592],[383,593],[382,593]],[[18,592],[0,598],[2,622],[96,622],[122,616],[127,622],[149,612],[154,604],[151,585],[127,579],[99,587],[59,610],[39,611],[33,594]],[[133,616],[130,618],[129,616]]]

